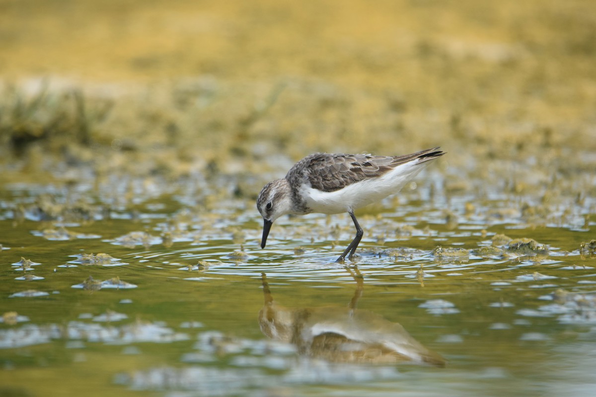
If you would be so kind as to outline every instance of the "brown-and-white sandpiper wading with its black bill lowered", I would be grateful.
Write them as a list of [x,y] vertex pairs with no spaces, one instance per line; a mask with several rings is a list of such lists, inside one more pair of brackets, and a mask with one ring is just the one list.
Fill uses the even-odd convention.
[[443,154],[437,147],[403,156],[315,153],[303,158],[283,179],[269,182],[259,193],[261,248],[265,248],[271,225],[281,215],[347,212],[356,226],[356,237],[336,262],[343,262],[348,254],[352,260],[364,234],[354,211],[399,192],[424,165]]

